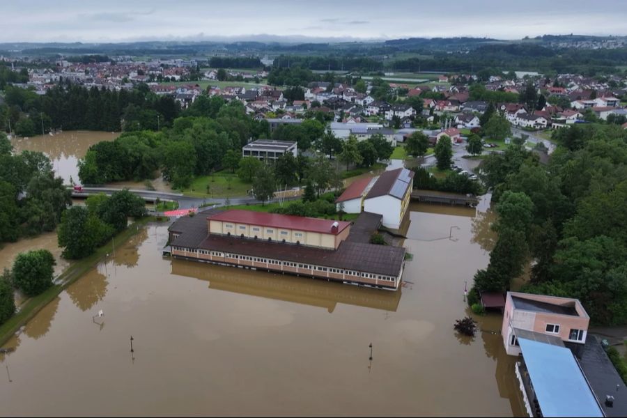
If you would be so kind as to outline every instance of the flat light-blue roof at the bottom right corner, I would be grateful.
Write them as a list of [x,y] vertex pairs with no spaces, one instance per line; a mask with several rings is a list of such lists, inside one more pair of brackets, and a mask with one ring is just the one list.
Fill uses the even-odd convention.
[[571,350],[518,338],[545,417],[603,417]]

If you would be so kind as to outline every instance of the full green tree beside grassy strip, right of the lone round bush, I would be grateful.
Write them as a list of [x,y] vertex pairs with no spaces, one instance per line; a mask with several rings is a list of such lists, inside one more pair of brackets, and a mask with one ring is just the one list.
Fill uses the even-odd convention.
[[114,229],[90,214],[87,208],[72,206],[63,212],[56,233],[59,247],[63,247],[63,257],[78,259],[92,254],[113,235]]

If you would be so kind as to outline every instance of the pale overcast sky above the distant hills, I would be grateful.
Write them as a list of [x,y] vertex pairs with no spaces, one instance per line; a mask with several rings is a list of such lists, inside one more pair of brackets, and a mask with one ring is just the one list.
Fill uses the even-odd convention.
[[0,42],[627,35],[627,1],[0,0]]

